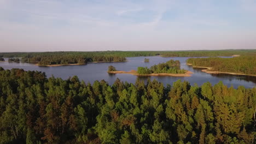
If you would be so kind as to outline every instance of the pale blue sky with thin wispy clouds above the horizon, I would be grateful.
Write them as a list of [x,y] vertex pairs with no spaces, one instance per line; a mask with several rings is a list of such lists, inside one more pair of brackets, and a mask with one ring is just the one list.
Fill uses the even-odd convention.
[[0,52],[256,49],[256,0],[0,0]]

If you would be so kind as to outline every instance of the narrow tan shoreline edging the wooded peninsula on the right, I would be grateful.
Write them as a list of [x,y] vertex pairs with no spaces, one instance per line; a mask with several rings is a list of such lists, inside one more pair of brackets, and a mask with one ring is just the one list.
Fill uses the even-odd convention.
[[199,66],[193,66],[190,63],[187,63],[187,65],[191,65],[193,68],[202,68],[201,71],[207,73],[207,74],[230,74],[230,75],[247,75],[247,76],[256,76],[253,74],[242,74],[242,73],[232,73],[232,72],[222,72],[222,71],[211,71],[212,67],[199,67]]

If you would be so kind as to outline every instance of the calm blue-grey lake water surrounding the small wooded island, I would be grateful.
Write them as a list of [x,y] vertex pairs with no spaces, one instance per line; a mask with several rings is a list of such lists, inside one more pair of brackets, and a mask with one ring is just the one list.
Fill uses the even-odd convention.
[[[207,74],[203,73],[201,69],[193,69],[191,66],[186,65],[186,60],[190,57],[146,57],[149,58],[149,63],[144,62],[145,57],[127,57],[128,62],[112,62],[112,63],[88,63],[87,65],[65,65],[60,67],[39,67],[30,63],[15,63],[15,62],[0,62],[0,67],[4,69],[20,68],[24,70],[37,70],[43,71],[48,77],[52,75],[55,77],[61,77],[62,79],[68,79],[77,75],[80,80],[84,80],[86,83],[93,83],[95,80],[105,80],[110,85],[119,78],[122,81],[129,83],[135,83],[137,77],[141,80],[147,81],[147,79],[156,79],[159,82],[172,85],[173,82],[181,79],[182,81],[189,81],[191,85],[197,83],[201,86],[202,83],[207,81],[213,85],[222,81],[224,85],[228,87],[244,86],[246,88],[252,88],[256,86],[256,77],[254,76],[236,76],[229,74]],[[230,58],[230,57],[225,57]],[[135,76],[130,74],[108,74],[108,66],[113,65],[117,70],[130,71],[132,69],[137,70],[137,67],[151,67],[154,64],[167,62],[170,59],[179,60],[181,62],[181,69],[192,71],[190,77],[171,77],[171,76]],[[5,61],[7,58],[5,58]]]

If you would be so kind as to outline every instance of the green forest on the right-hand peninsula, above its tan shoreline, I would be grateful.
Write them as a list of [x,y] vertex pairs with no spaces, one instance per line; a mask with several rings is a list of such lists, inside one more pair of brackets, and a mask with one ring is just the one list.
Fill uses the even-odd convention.
[[256,74],[256,57],[242,56],[233,58],[189,58],[187,63],[199,67],[212,67],[213,71],[242,73],[242,74]]

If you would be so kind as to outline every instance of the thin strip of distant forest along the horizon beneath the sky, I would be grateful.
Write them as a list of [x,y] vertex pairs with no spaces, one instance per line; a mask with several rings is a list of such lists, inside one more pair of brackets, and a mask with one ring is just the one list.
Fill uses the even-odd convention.
[[[118,56],[118,57],[139,57],[139,56],[163,56],[163,57],[216,57],[216,56],[255,56],[256,50],[196,50],[196,51],[56,51],[56,52],[1,52],[0,57],[44,57],[44,56]],[[95,61],[94,59],[87,59]]]

